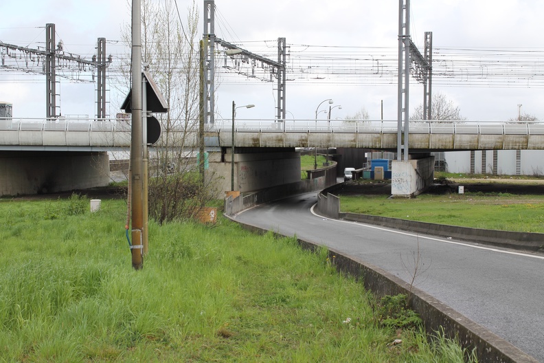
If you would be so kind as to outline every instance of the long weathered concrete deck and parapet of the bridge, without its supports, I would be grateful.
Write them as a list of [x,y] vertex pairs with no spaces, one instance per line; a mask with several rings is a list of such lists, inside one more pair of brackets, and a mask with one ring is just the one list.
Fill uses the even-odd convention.
[[[196,124],[196,122],[194,122]],[[237,120],[238,147],[346,147],[396,149],[396,121]],[[185,132],[186,131],[186,132]],[[181,137],[185,133],[185,137]],[[166,141],[163,131],[161,142]],[[198,126],[179,126],[169,144],[199,145]],[[231,146],[232,123],[207,125],[207,146]],[[131,121],[57,118],[0,119],[0,150],[112,150],[131,144]],[[411,151],[542,150],[544,122],[411,121]]]

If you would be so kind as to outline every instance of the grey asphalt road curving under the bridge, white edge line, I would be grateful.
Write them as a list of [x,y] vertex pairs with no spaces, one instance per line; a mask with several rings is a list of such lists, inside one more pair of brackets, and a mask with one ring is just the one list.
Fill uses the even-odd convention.
[[544,254],[488,248],[375,225],[337,221],[310,211],[317,192],[263,204],[235,219],[326,245],[409,282],[544,362]]

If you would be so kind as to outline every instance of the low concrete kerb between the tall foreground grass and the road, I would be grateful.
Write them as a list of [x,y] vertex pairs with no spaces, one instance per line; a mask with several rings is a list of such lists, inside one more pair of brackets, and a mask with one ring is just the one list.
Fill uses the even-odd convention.
[[[229,216],[242,228],[258,234],[269,232],[254,225],[241,223]],[[283,236],[274,232],[276,236]],[[298,239],[302,248],[314,251],[318,245],[302,239]],[[410,287],[400,278],[389,274],[379,267],[365,263],[352,256],[347,256],[336,250],[328,249],[330,261],[334,261],[339,272],[350,274],[362,281],[365,289],[372,291],[376,296],[407,294],[410,296],[409,305],[423,320],[425,330],[431,335],[433,332],[443,329],[449,338],[455,338],[461,347],[472,351],[475,349],[479,362],[489,363],[514,363],[514,362],[538,362],[527,353],[524,353],[506,340],[491,333],[481,325],[466,318],[447,305],[440,303],[429,294],[416,287]],[[334,256],[334,258],[333,258]]]

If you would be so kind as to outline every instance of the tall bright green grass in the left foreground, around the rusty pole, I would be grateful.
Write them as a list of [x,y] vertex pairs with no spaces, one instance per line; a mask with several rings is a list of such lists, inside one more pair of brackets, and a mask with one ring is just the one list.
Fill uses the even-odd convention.
[[81,200],[0,201],[0,362],[463,362],[383,327],[322,249],[221,218],[150,222],[136,272],[126,203],[74,213]]

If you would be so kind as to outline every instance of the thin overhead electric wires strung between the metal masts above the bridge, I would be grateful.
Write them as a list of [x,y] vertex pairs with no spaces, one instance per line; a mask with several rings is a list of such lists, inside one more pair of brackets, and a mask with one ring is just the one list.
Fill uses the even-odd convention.
[[[242,41],[234,43],[265,58],[276,57],[276,41]],[[327,83],[332,85],[396,85],[398,54],[396,47],[343,47],[335,45],[292,44],[287,47],[286,78],[292,85]],[[274,79],[267,65],[247,62],[243,54],[227,56],[216,50],[216,75],[225,85],[262,83],[269,85]],[[24,57],[23,57],[24,58]],[[5,74],[23,75],[38,71],[14,70],[25,64],[21,57],[3,57]],[[130,64],[130,54],[120,53],[116,63]],[[119,65],[119,63],[117,65]],[[63,69],[62,67],[60,69]],[[110,77],[121,76],[128,69],[110,69]],[[63,70],[67,78],[92,80],[92,75],[80,67]],[[72,73],[76,76],[72,76]],[[78,76],[79,74],[79,76]],[[244,77],[240,78],[240,74]],[[20,77],[18,77],[20,78]],[[0,83],[5,80],[0,73]],[[442,47],[433,50],[433,85],[450,87],[544,87],[544,48],[485,48]]]

